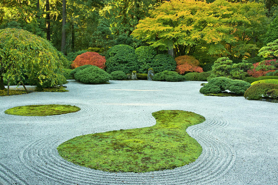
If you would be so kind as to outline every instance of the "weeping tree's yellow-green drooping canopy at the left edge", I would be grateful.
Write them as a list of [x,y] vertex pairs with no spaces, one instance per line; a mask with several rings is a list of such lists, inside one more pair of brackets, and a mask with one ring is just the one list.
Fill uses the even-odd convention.
[[6,72],[7,77],[18,81],[26,75],[38,87],[46,79],[53,86],[62,65],[58,51],[45,39],[25,30],[0,30],[0,77]]

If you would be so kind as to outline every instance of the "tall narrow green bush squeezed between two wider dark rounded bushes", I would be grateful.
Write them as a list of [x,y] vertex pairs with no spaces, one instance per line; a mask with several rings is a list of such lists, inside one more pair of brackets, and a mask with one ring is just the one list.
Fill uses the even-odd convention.
[[157,54],[151,46],[140,46],[135,49],[137,54],[137,61],[140,68],[137,69],[138,73],[147,73],[154,56]]

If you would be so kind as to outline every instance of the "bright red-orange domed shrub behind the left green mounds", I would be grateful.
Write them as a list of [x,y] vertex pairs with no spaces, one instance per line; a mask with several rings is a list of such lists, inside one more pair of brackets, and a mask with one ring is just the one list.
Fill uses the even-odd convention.
[[101,69],[104,69],[105,67],[105,57],[99,55],[96,52],[86,52],[86,53],[82,53],[81,55],[78,55],[75,60],[73,61],[73,63],[71,64],[72,68],[77,68],[79,66],[83,66],[83,65],[87,65],[87,64],[91,64],[91,65],[95,65]]

